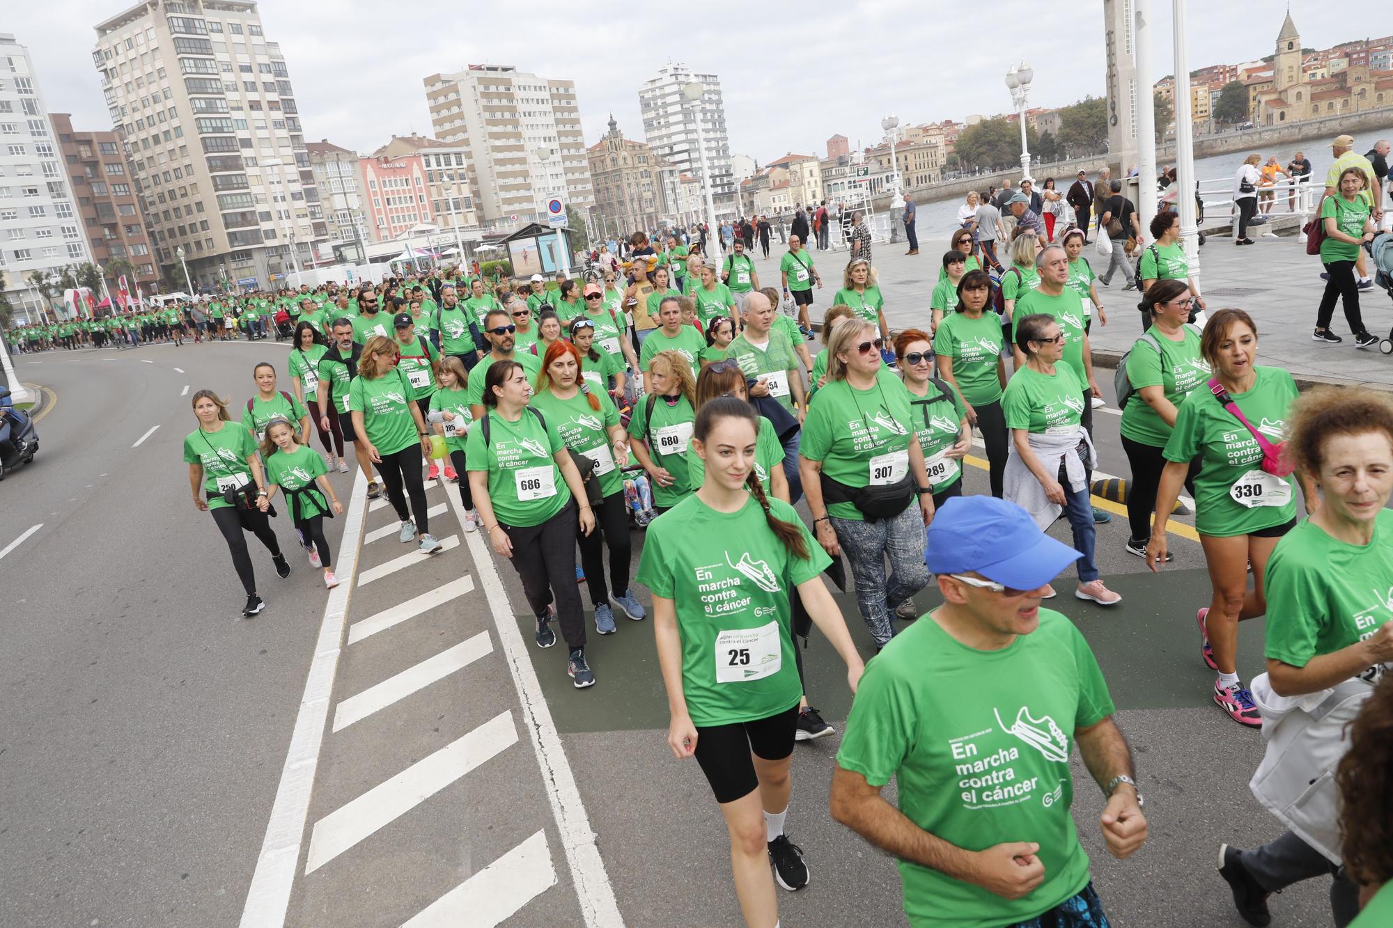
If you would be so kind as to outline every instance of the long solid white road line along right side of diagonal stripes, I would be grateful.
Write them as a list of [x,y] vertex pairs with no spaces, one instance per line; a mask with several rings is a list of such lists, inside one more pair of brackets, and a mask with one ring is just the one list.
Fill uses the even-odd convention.
[[[450,493],[449,499],[462,528],[464,503],[460,502],[458,493]],[[581,904],[581,917],[585,920],[586,928],[623,928],[624,917],[618,914],[614,886],[610,885],[609,874],[605,871],[605,860],[595,843],[596,835],[591,828],[591,817],[581,800],[581,790],[575,786],[575,773],[571,771],[570,761],[566,759],[561,736],[556,732],[552,709],[542,694],[542,684],[538,683],[532,655],[527,649],[527,642],[522,641],[522,633],[518,631],[517,619],[514,619],[513,608],[508,605],[508,594],[503,589],[497,564],[481,532],[465,532],[464,536],[469,543],[475,573],[483,584],[489,610],[493,613],[493,624],[499,634],[503,656],[508,662],[508,673],[513,674],[513,686],[518,691],[522,727],[532,738],[532,750],[542,768],[542,783],[546,784],[546,798],[552,804],[552,818],[556,819],[556,828],[561,832],[561,849],[566,851],[571,883],[575,886],[575,896]],[[560,663],[557,662],[557,672],[559,669]]]

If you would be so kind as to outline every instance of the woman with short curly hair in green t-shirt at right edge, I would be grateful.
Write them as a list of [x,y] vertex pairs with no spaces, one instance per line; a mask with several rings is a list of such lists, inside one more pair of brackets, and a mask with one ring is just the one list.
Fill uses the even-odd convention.
[[[1364,850],[1371,856],[1364,861],[1387,860],[1389,850],[1386,773],[1369,769],[1369,764],[1378,761],[1368,751],[1386,752],[1393,744],[1387,737],[1389,720],[1393,719],[1389,713],[1393,705],[1389,698],[1393,697],[1393,605],[1387,602],[1387,591],[1393,588],[1393,543],[1389,536],[1393,532],[1393,511],[1387,509],[1393,496],[1393,401],[1375,390],[1355,393],[1318,387],[1291,404],[1287,428],[1291,436],[1286,446],[1287,456],[1319,488],[1321,506],[1277,542],[1268,562],[1268,596],[1282,606],[1266,619],[1263,649],[1268,659],[1266,690],[1270,694],[1255,688],[1259,688],[1259,698],[1266,697],[1263,702],[1275,702],[1311,694],[1316,694],[1314,699],[1318,701],[1332,687],[1339,687],[1336,693],[1367,693],[1364,684],[1376,687],[1373,695],[1362,702],[1362,711],[1346,736],[1350,738],[1348,752],[1340,761],[1336,780],[1346,801],[1351,798],[1351,783],[1357,784],[1357,794],[1372,796],[1372,790],[1378,790],[1378,800],[1365,804],[1367,825],[1346,815],[1343,829],[1340,822],[1330,819],[1322,822],[1323,833],[1298,836],[1287,830],[1254,850],[1227,847],[1219,872],[1230,883],[1256,882],[1263,893],[1282,892],[1302,875],[1332,869],[1326,857],[1308,840],[1323,839],[1319,843],[1328,851],[1344,850],[1346,867],[1353,863],[1348,854],[1351,843],[1364,844],[1369,837],[1376,839],[1378,847],[1365,844]],[[1337,695],[1330,702],[1340,699]],[[1371,706],[1380,699],[1385,718],[1378,737],[1382,744],[1361,744],[1361,725]],[[1334,709],[1325,719],[1332,757],[1340,750],[1337,741],[1343,723],[1350,720],[1353,712],[1348,708],[1344,712]],[[1273,779],[1277,778],[1269,778]],[[1325,786],[1325,790],[1314,790],[1321,793],[1318,800],[1334,803],[1333,787]],[[1307,778],[1297,779],[1297,789],[1307,789]],[[1282,861],[1280,868],[1272,865],[1277,860]],[[1368,885],[1358,876],[1358,872],[1346,875],[1344,871],[1336,875],[1330,885],[1330,903],[1336,913],[1358,908],[1357,882]],[[1393,874],[1383,874],[1380,879],[1387,876]],[[1376,885],[1380,881],[1372,882]],[[1339,915],[1337,921],[1346,924]],[[1373,928],[1390,922],[1385,917],[1354,924]]]

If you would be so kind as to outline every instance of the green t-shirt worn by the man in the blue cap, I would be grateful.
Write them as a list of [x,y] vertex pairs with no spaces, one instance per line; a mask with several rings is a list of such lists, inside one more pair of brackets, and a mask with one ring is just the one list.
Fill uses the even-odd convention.
[[1112,713],[1088,642],[1052,609],[1000,651],[968,648],[925,616],[866,665],[837,766],[876,787],[894,778],[900,811],[935,837],[970,851],[1034,842],[1045,865],[1045,882],[1006,900],[900,860],[911,924],[1000,928],[1088,885],[1068,757],[1074,733]]

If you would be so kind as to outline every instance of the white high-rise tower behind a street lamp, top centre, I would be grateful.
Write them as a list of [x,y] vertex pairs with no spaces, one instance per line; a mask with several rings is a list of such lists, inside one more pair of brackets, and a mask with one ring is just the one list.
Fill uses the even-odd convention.
[[[690,105],[683,86],[701,81],[701,103]],[[644,137],[655,155],[677,164],[684,174],[701,177],[701,153],[696,148],[696,123],[692,110],[701,111],[706,139],[706,163],[710,167],[710,194],[717,219],[734,219],[736,178],[730,164],[730,137],[726,131],[726,105],[720,79],[715,74],[694,74],[685,64],[669,64],[638,91],[644,117]]]

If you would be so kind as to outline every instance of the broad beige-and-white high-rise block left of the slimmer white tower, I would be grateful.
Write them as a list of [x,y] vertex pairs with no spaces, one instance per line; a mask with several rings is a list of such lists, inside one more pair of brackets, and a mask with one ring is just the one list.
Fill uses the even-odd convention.
[[471,64],[423,84],[435,137],[465,146],[485,223],[546,222],[546,201],[557,195],[582,215],[595,205],[574,81]]

